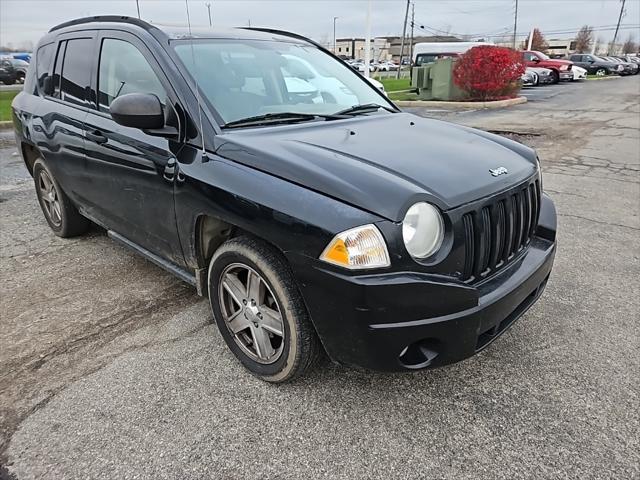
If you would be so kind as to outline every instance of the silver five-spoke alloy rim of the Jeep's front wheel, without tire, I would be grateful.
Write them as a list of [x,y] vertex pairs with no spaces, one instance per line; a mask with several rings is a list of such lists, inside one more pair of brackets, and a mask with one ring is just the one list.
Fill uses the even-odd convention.
[[284,320],[264,278],[248,265],[233,263],[222,272],[218,298],[224,323],[244,353],[262,364],[277,361],[285,344]]

